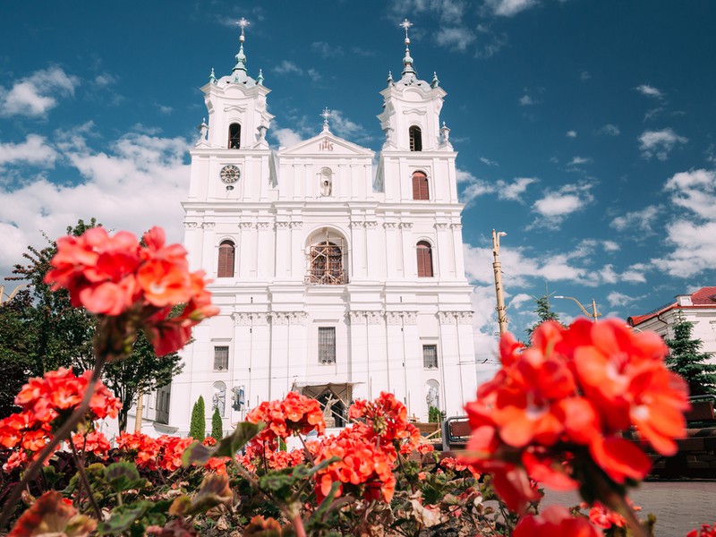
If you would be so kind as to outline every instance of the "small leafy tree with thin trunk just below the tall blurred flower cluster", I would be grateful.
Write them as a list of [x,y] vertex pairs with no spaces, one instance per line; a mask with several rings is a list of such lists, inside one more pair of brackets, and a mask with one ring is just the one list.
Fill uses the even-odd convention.
[[176,353],[158,356],[144,332],[139,332],[128,358],[107,363],[103,373],[105,384],[122,401],[117,417],[119,430],[127,429],[127,413],[138,394],[146,394],[169,384],[175,375],[182,372],[181,361]]

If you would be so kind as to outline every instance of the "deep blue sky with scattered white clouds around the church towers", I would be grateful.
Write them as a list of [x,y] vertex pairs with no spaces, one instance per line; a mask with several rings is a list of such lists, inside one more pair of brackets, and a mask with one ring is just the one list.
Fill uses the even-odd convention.
[[[482,354],[496,331],[490,230],[510,328],[532,295],[626,318],[716,283],[716,3],[668,0],[12,3],[0,17],[0,276],[78,217],[182,238],[188,149],[235,21],[272,90],[274,147],[320,131],[378,150],[375,118],[413,21],[447,90]],[[552,301],[564,320],[574,303]],[[481,350],[482,349],[482,350]]]

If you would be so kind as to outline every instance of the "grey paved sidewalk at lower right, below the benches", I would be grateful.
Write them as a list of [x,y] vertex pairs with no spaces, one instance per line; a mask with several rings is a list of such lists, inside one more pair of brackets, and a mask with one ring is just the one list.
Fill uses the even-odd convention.
[[[684,537],[701,524],[716,524],[716,481],[644,482],[630,498],[642,507],[637,516],[656,516],[656,537]],[[545,490],[541,507],[578,503],[576,492]]]

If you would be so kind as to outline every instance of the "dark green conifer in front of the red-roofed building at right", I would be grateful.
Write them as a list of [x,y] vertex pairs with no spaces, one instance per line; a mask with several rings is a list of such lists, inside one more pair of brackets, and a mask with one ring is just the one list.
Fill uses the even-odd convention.
[[688,382],[692,396],[716,394],[716,364],[709,362],[711,354],[701,352],[703,341],[692,337],[694,323],[684,319],[679,311],[672,328],[674,338],[664,340],[669,346],[666,359],[669,369]]

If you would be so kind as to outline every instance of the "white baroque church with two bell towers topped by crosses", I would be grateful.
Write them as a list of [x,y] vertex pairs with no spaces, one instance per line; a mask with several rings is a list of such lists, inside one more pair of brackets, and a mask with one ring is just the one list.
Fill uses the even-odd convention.
[[[375,152],[323,128],[271,149],[261,72],[240,48],[230,74],[201,88],[208,123],[191,151],[185,246],[221,312],[194,328],[168,423],[218,408],[224,430],[261,401],[298,391],[346,422],[354,399],[392,392],[408,415],[464,413],[477,387],[465,279],[456,151],[440,124],[437,75],[403,71],[380,91],[385,141]],[[318,131],[318,129],[317,129]]]

